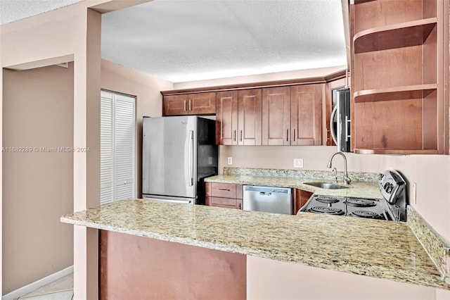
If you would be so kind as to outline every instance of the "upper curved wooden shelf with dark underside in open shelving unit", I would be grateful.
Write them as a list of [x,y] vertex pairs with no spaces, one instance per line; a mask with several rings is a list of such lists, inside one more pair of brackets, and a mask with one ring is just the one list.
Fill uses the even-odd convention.
[[354,53],[423,44],[436,24],[437,18],[427,18],[363,30],[354,35]]

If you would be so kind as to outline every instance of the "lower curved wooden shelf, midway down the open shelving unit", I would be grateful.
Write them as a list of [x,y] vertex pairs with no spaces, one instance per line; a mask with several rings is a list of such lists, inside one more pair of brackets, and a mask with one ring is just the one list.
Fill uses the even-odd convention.
[[404,87],[387,87],[385,89],[364,89],[354,92],[354,102],[390,101],[401,99],[418,99],[428,96],[437,89],[437,84],[408,85]]

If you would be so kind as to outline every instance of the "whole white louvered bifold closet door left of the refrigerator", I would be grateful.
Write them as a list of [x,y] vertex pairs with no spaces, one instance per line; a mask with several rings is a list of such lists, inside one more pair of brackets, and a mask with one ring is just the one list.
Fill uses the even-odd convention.
[[135,98],[101,92],[101,204],[134,198]]

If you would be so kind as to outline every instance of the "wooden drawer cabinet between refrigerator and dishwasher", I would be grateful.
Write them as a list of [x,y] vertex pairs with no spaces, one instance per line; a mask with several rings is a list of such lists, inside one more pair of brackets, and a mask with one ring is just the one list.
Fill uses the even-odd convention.
[[206,205],[225,208],[243,208],[242,185],[206,182]]

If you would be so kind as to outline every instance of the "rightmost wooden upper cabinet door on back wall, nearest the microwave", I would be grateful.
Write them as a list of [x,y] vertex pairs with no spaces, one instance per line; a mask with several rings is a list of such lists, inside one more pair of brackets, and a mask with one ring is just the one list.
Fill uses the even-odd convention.
[[322,87],[323,84],[290,88],[291,145],[322,144]]

